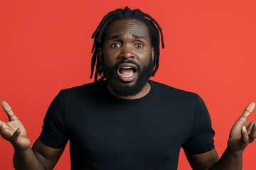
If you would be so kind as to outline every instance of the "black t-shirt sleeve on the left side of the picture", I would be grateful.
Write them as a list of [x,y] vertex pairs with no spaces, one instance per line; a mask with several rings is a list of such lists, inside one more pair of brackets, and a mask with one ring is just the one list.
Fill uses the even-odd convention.
[[65,132],[65,103],[63,91],[55,96],[43,120],[41,142],[48,147],[63,148],[68,142]]

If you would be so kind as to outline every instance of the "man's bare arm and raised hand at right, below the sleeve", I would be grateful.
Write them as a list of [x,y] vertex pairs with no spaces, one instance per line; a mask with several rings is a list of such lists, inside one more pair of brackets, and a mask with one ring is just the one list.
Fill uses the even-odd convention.
[[256,138],[256,120],[247,123],[247,117],[252,113],[255,103],[250,103],[230,131],[228,147],[218,159],[215,149],[203,154],[186,153],[193,169],[236,170],[242,169],[242,152]]

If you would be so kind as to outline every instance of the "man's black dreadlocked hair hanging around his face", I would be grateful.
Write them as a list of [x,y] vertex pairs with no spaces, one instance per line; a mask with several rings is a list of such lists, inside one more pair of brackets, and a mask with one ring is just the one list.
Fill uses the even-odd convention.
[[[152,73],[152,76],[156,73],[158,67],[159,67],[159,55],[160,55],[160,49],[159,49],[159,42],[160,37],[159,33],[161,34],[161,45],[164,49],[164,38],[163,33],[161,30],[161,27],[159,26],[159,23],[154,20],[149,14],[142,12],[140,9],[134,9],[131,10],[129,7],[117,8],[114,11],[110,11],[110,13],[107,13],[106,16],[102,18],[102,21],[100,21],[99,26],[97,26],[95,32],[92,34],[92,39],[94,39],[93,45],[92,45],[92,63],[91,63],[91,74],[90,79],[92,79],[94,69],[95,69],[95,81],[102,81],[105,79],[105,76],[102,69],[102,63],[99,60],[99,48],[102,48],[104,45],[104,38],[105,33],[110,26],[111,23],[117,20],[126,20],[126,19],[136,19],[138,21],[141,21],[146,25],[149,31],[149,38],[151,41],[151,47],[154,47],[154,72]],[[98,79],[98,76],[100,76],[100,79]]]

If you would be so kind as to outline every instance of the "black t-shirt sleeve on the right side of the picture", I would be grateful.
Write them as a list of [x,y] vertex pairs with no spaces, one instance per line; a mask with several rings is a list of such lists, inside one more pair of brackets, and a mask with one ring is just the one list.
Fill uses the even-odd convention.
[[214,149],[213,137],[215,132],[211,125],[210,115],[206,108],[206,104],[200,96],[198,96],[193,121],[191,136],[183,145],[183,149],[191,154],[202,154]]

